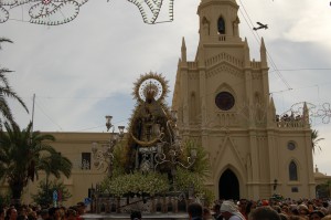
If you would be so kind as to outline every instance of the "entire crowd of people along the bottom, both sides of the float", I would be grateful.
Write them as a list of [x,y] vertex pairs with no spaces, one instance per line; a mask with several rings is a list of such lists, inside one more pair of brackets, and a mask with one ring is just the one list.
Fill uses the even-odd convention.
[[[86,206],[73,207],[0,206],[0,220],[83,220]],[[331,200],[258,200],[215,201],[210,209],[193,202],[188,207],[190,220],[331,220]],[[130,213],[131,220],[143,219],[141,212]]]

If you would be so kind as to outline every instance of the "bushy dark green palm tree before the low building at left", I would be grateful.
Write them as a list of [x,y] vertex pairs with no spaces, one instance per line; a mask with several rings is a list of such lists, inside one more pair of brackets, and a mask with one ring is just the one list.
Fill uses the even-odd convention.
[[8,122],[4,127],[7,132],[0,132],[0,179],[8,181],[15,202],[20,201],[29,179],[34,181],[39,177],[39,171],[45,171],[47,177],[71,176],[72,163],[50,145],[54,136],[32,132],[32,123],[22,130]]

